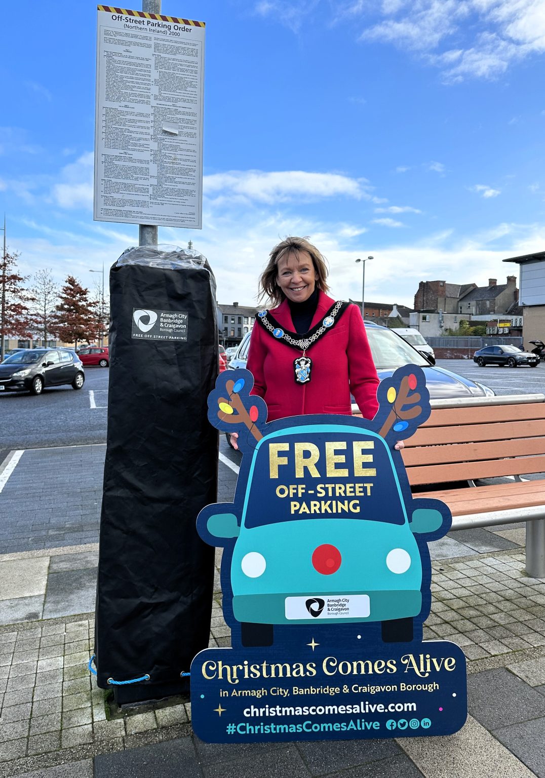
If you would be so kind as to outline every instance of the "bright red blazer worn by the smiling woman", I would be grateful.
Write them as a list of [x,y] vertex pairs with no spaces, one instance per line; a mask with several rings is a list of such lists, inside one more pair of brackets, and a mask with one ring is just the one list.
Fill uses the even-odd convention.
[[[311,328],[334,303],[320,291]],[[287,300],[272,309],[271,315],[282,327],[295,331]],[[246,366],[255,381],[252,394],[259,394],[267,403],[268,421],[303,413],[351,415],[350,393],[365,419],[373,418],[379,408],[379,378],[358,307],[349,305],[334,326],[306,352],[313,360],[308,384],[295,383],[293,360],[301,355],[299,349],[277,340],[258,322],[253,325]]]

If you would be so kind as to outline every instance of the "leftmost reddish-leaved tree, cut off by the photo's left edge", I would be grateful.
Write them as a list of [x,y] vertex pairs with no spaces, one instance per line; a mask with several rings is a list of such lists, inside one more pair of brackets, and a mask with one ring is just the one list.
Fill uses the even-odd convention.
[[19,254],[5,251],[0,256],[0,356],[4,359],[5,340],[31,337],[28,303],[32,295],[25,289],[26,278],[17,268]]

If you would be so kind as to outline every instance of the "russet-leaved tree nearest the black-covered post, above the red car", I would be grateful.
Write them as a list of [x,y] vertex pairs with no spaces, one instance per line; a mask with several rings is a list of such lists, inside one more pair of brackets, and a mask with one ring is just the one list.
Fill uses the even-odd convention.
[[65,343],[91,341],[97,335],[97,303],[89,300],[89,289],[85,289],[73,275],[68,275],[59,294],[60,303],[55,306],[50,328],[53,335]]

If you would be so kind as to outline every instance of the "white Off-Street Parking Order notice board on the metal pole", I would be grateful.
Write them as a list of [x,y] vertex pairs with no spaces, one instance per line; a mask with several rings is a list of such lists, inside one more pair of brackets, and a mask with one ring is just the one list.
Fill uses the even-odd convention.
[[202,226],[204,22],[98,6],[94,218]]

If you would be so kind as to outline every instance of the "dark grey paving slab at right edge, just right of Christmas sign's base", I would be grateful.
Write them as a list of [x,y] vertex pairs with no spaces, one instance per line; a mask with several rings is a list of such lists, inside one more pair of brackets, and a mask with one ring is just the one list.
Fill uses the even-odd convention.
[[492,731],[545,716],[545,697],[504,668],[467,678],[470,714]]

